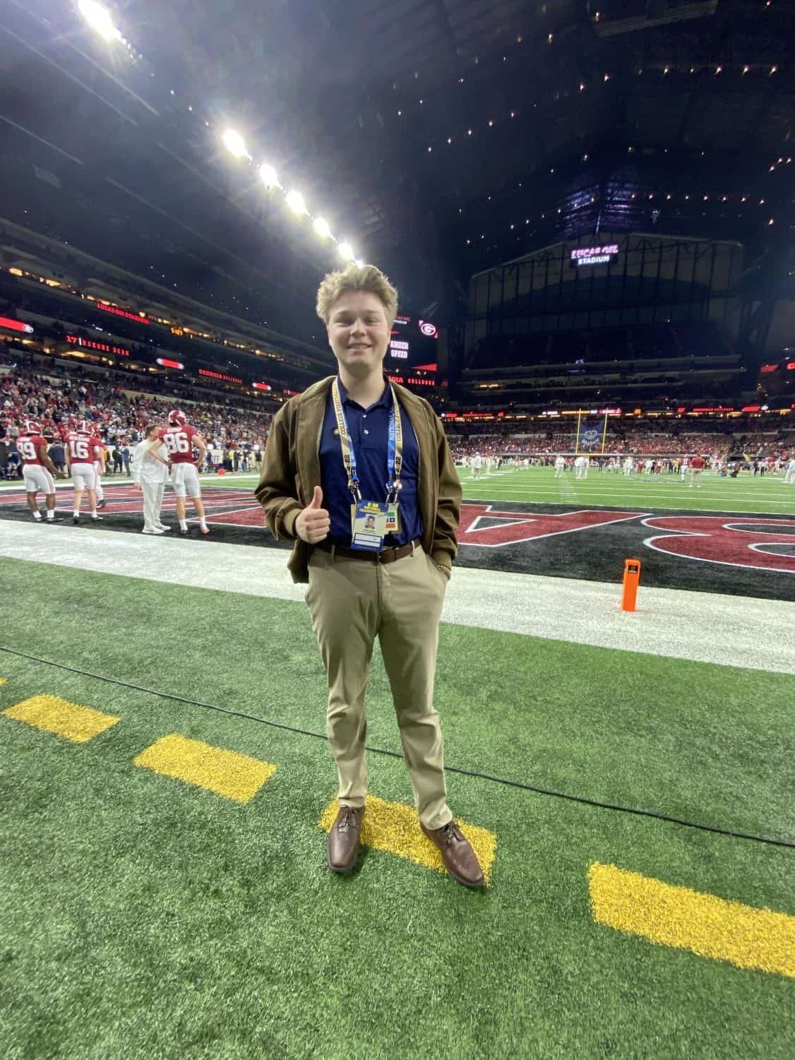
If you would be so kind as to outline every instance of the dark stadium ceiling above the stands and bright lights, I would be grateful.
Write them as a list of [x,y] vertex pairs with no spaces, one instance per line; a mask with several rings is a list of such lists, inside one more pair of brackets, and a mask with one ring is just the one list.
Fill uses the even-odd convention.
[[784,0],[126,0],[134,59],[3,8],[0,213],[304,337],[338,258],[226,126],[440,322],[562,234],[790,230]]

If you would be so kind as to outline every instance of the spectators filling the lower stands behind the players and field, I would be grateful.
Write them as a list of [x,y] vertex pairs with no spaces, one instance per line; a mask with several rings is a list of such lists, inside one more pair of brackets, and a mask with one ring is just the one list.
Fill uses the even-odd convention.
[[[5,364],[3,364],[5,360]],[[14,457],[14,439],[26,418],[41,422],[45,437],[57,441],[78,419],[95,424],[106,446],[108,467],[118,448],[140,440],[148,423],[164,422],[175,403],[190,410],[191,422],[207,439],[213,464],[226,463],[237,470],[235,450],[261,453],[265,446],[272,411],[262,409],[262,400],[244,394],[223,393],[195,382],[157,378],[131,378],[128,373],[75,371],[57,365],[46,370],[22,370],[7,355],[0,355],[0,475],[16,478],[20,474]],[[788,427],[792,427],[789,423]],[[536,430],[516,430],[512,424],[445,423],[453,455],[459,463],[475,453],[483,458],[543,458],[558,453],[573,453],[576,423],[554,423]],[[684,457],[695,453],[725,460],[732,453],[744,455],[748,462],[761,458],[783,460],[795,455],[795,432],[782,428],[780,421],[765,419],[717,419],[696,426],[681,420],[624,425],[611,420],[605,436],[607,454],[632,454],[635,457]]]

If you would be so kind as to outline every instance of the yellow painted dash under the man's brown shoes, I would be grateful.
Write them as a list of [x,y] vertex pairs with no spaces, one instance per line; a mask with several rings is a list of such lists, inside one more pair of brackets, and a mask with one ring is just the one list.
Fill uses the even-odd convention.
[[[333,799],[323,811],[318,827],[330,832],[338,811],[339,805]],[[487,885],[490,884],[492,864],[497,852],[497,836],[477,825],[467,825],[462,820],[458,825],[477,854]],[[361,818],[360,841],[374,850],[386,850],[387,853],[406,858],[425,868],[446,872],[439,848],[420,830],[417,810],[403,802],[387,802],[383,798],[368,795]]]

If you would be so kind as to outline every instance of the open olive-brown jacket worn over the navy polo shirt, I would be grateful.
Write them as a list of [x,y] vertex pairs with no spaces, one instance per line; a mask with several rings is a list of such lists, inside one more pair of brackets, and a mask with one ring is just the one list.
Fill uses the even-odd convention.
[[[312,500],[320,481],[320,434],[329,390],[335,376],[313,384],[279,409],[270,426],[262,461],[260,484],[254,491],[265,509],[273,536],[295,541],[287,563],[294,582],[310,580],[307,561],[312,546],[297,537],[296,518]],[[420,449],[417,497],[424,527],[423,548],[436,563],[449,566],[458,551],[461,485],[456,465],[436,412],[396,383],[394,392],[417,435]]]

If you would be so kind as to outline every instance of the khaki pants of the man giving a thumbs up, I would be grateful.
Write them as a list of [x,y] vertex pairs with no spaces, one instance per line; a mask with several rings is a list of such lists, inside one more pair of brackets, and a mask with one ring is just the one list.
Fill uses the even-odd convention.
[[418,546],[395,563],[347,560],[315,549],[306,604],[329,678],[325,730],[341,806],[367,795],[365,692],[376,636],[381,641],[414,805],[426,828],[453,819],[444,745],[434,710],[439,616],[447,578]]

